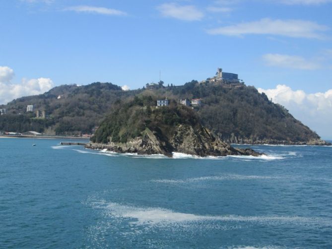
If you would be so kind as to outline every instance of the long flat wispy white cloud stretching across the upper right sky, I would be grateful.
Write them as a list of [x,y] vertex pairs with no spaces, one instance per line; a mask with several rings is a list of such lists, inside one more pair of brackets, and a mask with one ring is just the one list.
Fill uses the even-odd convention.
[[243,36],[256,35],[281,35],[299,38],[322,39],[321,32],[328,30],[327,26],[305,20],[272,20],[263,18],[259,21],[244,22],[231,26],[224,26],[207,30],[211,35]]

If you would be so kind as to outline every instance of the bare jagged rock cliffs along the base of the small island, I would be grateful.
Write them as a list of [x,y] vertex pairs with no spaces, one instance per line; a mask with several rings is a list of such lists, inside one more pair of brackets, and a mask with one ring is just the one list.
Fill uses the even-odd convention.
[[206,128],[199,125],[193,128],[190,125],[178,125],[172,137],[163,137],[156,132],[146,129],[142,136],[126,143],[109,142],[92,143],[85,145],[88,149],[108,150],[117,153],[137,153],[138,155],[163,154],[172,157],[173,152],[179,152],[199,157],[246,155],[261,156],[263,153],[250,148],[234,148],[231,145],[214,137]]

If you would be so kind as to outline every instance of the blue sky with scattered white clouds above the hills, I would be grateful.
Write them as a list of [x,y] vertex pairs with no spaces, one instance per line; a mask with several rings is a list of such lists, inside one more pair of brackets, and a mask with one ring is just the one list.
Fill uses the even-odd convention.
[[332,0],[0,0],[0,104],[238,73],[332,139]]

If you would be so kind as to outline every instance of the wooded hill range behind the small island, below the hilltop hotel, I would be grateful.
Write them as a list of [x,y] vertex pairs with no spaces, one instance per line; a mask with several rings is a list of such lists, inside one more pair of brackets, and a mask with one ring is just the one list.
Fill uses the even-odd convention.
[[[64,98],[58,99],[62,95]],[[150,96],[179,102],[180,99],[202,100],[195,108],[199,122],[222,140],[250,144],[326,144],[320,136],[302,124],[282,106],[268,100],[253,86],[212,82],[187,82],[182,86],[151,87],[123,91],[112,83],[95,82],[86,86],[64,85],[49,92],[16,99],[8,105],[7,115],[0,116],[0,130],[24,132],[36,130],[48,134],[91,133],[105,115],[122,101]],[[144,98],[142,98],[144,99]],[[146,101],[146,100],[145,100]],[[26,105],[45,110],[48,119],[27,113]],[[22,117],[17,117],[21,114]]]

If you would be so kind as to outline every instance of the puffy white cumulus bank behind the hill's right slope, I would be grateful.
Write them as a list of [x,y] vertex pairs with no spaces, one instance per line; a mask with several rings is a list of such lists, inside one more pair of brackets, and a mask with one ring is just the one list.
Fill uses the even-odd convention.
[[258,88],[274,103],[283,105],[303,124],[314,129],[325,139],[332,139],[332,89],[325,93],[306,93],[292,90],[286,85],[277,85],[274,89]]

